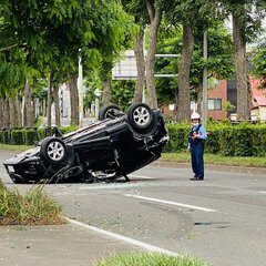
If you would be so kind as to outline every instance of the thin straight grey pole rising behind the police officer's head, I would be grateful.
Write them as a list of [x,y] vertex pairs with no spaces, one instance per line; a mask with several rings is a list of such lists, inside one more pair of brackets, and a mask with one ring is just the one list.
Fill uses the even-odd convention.
[[[203,60],[207,61],[207,31],[203,33]],[[207,123],[207,66],[203,68],[203,91],[202,91],[202,121]]]

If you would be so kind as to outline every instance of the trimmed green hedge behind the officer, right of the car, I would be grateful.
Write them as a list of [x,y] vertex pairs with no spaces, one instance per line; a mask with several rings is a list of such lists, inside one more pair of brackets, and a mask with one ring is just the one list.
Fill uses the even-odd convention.
[[[187,149],[188,124],[170,124],[170,141],[165,152],[180,152]],[[265,124],[208,124],[208,139],[205,152],[224,156],[265,156]]]

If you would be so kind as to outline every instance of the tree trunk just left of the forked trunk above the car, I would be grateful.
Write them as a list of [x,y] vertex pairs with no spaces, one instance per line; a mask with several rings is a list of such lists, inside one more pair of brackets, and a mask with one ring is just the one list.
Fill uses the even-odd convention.
[[136,60],[136,85],[133,102],[142,102],[143,90],[145,85],[145,58],[143,51],[143,41],[144,41],[144,29],[141,27],[140,32],[136,35],[134,52]]

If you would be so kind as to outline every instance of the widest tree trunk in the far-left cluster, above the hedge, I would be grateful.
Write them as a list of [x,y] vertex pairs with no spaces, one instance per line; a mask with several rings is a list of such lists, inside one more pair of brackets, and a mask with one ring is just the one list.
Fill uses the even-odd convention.
[[32,90],[31,85],[29,83],[29,80],[27,79],[25,81],[25,86],[24,86],[24,108],[23,108],[23,126],[30,127],[34,125],[34,110],[32,106]]

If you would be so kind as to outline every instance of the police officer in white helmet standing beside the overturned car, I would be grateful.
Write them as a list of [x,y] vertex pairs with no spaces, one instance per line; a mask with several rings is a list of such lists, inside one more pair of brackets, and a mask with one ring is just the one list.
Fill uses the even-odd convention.
[[191,115],[192,129],[188,135],[188,149],[191,151],[192,171],[194,176],[191,181],[204,180],[204,141],[207,139],[206,130],[202,125],[198,113]]

